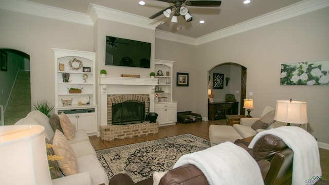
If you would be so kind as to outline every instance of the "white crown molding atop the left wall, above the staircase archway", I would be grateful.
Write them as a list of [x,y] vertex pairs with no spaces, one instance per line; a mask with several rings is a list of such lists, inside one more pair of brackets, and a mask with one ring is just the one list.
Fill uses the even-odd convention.
[[42,5],[24,0],[0,0],[0,8],[30,15],[53,18],[72,23],[93,25],[90,17],[85,13],[66,10],[62,8]]

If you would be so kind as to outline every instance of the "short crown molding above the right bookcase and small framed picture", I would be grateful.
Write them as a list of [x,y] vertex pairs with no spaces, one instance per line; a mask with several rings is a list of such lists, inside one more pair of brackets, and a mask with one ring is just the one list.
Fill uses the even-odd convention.
[[155,30],[155,38],[196,46],[196,40],[194,38],[176,33],[171,33],[168,31]]

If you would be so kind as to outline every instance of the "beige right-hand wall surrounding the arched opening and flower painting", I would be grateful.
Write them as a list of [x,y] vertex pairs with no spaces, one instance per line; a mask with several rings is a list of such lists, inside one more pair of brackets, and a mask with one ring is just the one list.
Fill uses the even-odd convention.
[[195,89],[200,97],[196,112],[207,117],[207,71],[221,62],[239,63],[247,68],[247,98],[254,100],[253,117],[260,117],[266,105],[275,107],[276,100],[306,101],[314,136],[329,143],[328,86],[280,85],[280,64],[329,59],[327,17],[329,8],[197,46],[196,61],[207,63],[196,63],[196,83],[201,84]]

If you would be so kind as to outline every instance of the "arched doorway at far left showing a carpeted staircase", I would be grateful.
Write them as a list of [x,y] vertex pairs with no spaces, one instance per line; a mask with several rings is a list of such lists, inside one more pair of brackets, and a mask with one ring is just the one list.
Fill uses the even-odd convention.
[[14,49],[0,49],[0,105],[4,124],[14,124],[31,111],[30,56]]

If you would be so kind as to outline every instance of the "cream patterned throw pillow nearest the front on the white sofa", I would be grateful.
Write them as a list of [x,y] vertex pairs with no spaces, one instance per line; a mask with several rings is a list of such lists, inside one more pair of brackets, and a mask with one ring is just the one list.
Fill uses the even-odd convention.
[[57,161],[63,174],[65,176],[77,174],[79,172],[77,156],[61,131],[55,131],[52,145],[54,145],[53,152],[64,157]]

